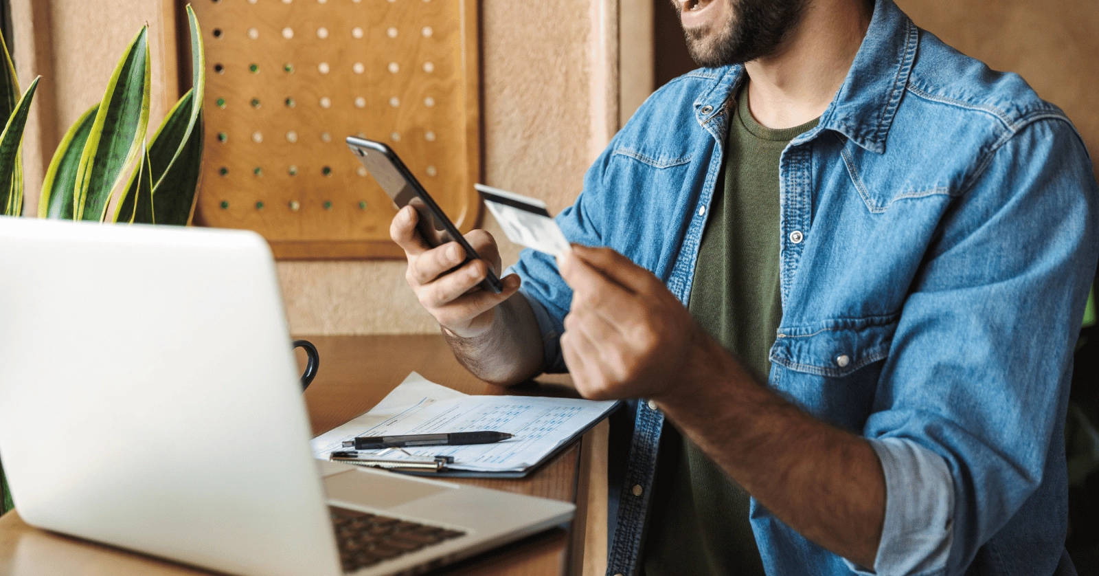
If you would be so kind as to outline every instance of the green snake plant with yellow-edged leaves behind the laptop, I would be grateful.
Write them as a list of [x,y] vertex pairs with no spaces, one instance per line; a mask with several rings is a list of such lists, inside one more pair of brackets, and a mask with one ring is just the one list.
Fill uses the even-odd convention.
[[[126,47],[102,100],[69,128],[42,182],[38,218],[187,225],[193,213],[202,164],[206,55],[202,33],[187,7],[192,86],[147,137],[149,112],[148,26]],[[22,140],[38,78],[20,92],[15,67],[0,34],[0,214],[23,212]],[[0,467],[0,513],[12,507]]]

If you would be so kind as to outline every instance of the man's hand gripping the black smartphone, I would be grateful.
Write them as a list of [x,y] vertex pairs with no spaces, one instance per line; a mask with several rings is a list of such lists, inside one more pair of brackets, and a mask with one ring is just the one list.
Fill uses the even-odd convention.
[[490,266],[497,276],[500,274],[500,251],[492,235],[484,230],[473,230],[465,235],[480,259],[447,272],[465,261],[466,251],[457,242],[429,247],[417,232],[418,218],[417,211],[407,206],[397,212],[389,225],[390,237],[404,250],[409,259],[404,279],[440,325],[458,337],[484,334],[492,328],[497,304],[519,290],[519,276],[511,274],[501,278],[503,291],[500,293],[477,287]]

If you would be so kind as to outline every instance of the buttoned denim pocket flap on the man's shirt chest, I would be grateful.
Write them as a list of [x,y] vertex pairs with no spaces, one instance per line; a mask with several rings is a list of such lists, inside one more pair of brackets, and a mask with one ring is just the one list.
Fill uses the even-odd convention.
[[778,329],[770,362],[818,376],[846,376],[889,355],[897,314]]

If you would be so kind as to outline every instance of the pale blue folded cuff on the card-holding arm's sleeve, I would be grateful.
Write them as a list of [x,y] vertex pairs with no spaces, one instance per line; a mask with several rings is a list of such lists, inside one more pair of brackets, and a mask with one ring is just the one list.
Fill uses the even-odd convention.
[[954,480],[942,456],[908,439],[870,440],[886,476],[886,518],[869,571],[863,576],[942,574],[954,541]]

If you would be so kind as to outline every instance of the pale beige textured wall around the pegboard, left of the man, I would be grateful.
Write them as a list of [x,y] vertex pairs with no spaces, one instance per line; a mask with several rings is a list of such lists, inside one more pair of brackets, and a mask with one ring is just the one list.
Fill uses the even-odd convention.
[[[152,122],[159,123],[169,96],[178,96],[175,27],[171,0],[11,2],[20,77],[47,77],[25,141],[26,213],[34,213],[42,167],[79,113],[99,100],[145,22]],[[618,130],[618,0],[481,0],[481,26],[484,181],[540,197],[556,213],[579,193],[588,165]],[[518,246],[490,217],[485,226],[501,240],[506,263],[514,262]],[[404,284],[402,261],[281,262],[278,273],[295,333],[439,330]]]

